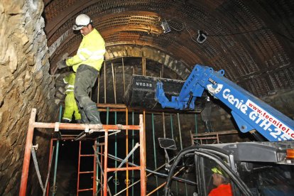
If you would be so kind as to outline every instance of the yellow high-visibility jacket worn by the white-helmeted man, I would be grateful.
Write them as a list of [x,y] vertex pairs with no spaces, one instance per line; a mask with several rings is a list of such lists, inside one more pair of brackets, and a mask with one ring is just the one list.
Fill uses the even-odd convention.
[[82,38],[77,55],[67,59],[66,65],[72,66],[72,70],[75,72],[81,64],[92,66],[99,71],[104,61],[105,51],[104,39],[94,28],[91,33]]

